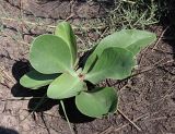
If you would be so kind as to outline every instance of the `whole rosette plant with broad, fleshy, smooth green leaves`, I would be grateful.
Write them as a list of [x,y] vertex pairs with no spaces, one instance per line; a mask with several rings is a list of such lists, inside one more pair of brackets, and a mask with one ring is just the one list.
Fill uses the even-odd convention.
[[30,49],[33,68],[20,83],[31,89],[48,85],[47,96],[62,100],[75,97],[80,112],[101,118],[117,109],[113,87],[88,88],[105,78],[124,80],[131,75],[138,52],[156,39],[153,33],[122,29],[108,35],[95,46],[83,68],[79,66],[75,35],[67,22],[59,23],[55,34],[40,35]]

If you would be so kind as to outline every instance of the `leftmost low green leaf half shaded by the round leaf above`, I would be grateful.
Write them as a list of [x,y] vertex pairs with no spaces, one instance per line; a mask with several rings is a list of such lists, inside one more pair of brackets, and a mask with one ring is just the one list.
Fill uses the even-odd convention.
[[59,74],[42,74],[35,70],[23,75],[20,84],[26,88],[38,89],[42,86],[50,84]]

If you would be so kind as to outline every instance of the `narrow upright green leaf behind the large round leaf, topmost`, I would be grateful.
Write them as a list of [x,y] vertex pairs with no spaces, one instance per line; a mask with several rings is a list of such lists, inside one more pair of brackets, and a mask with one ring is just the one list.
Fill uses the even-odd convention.
[[59,23],[56,27],[55,35],[59,36],[68,44],[71,51],[72,64],[74,64],[78,58],[78,48],[71,25],[67,22]]

